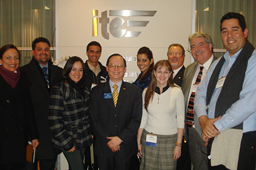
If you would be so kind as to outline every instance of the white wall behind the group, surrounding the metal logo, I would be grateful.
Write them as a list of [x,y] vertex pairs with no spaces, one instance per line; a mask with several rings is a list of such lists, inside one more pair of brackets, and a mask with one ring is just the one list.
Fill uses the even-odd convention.
[[[84,61],[87,60],[86,46],[91,41],[97,41],[102,46],[100,61],[106,65],[109,55],[119,53],[131,57],[127,61],[127,73],[139,73],[136,66],[136,53],[142,46],[149,47],[153,52],[155,63],[167,59],[168,46],[171,43],[181,43],[188,49],[188,36],[192,27],[192,2],[188,0],[59,0],[57,2],[57,42],[59,42],[59,56],[77,55]],[[98,37],[92,36],[92,10],[101,12],[109,10],[153,10],[157,11],[153,17],[121,17],[126,22],[121,29],[129,31],[142,31],[138,37],[114,37],[107,32],[109,40],[101,36],[101,24],[98,24]],[[109,22],[118,16],[108,16]],[[146,27],[127,27],[127,20],[149,20]],[[185,66],[190,64],[191,57],[186,51]],[[132,75],[132,74],[131,74]],[[126,81],[134,81],[136,77],[124,77]],[[62,156],[62,169],[68,169],[65,158]]]

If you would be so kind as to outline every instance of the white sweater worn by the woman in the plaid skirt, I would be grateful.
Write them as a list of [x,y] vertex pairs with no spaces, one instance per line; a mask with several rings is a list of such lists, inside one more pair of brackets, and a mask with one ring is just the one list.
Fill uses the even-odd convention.
[[[184,128],[184,95],[178,87],[169,87],[164,93],[155,92],[148,109],[144,109],[145,89],[142,93],[143,110],[141,126],[153,134],[170,135],[178,133],[178,128]],[[159,96],[159,104],[158,104]]]

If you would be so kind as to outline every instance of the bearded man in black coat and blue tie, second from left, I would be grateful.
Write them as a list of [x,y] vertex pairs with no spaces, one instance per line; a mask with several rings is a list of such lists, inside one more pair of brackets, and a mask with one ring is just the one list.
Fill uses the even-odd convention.
[[36,160],[39,160],[40,170],[49,170],[55,168],[57,155],[60,153],[51,145],[52,134],[48,124],[50,93],[51,87],[62,80],[62,69],[50,61],[48,39],[34,39],[32,54],[30,63],[21,67],[21,70],[27,73],[31,82],[30,93],[40,142],[36,148]]

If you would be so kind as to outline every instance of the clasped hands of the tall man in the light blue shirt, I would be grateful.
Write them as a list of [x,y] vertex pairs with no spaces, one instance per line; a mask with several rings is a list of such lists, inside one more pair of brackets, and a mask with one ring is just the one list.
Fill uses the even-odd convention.
[[220,131],[214,125],[214,122],[218,121],[222,116],[215,119],[209,119],[207,116],[200,116],[199,122],[202,129],[202,139],[205,141],[205,146],[208,144],[210,138],[216,137],[220,134]]

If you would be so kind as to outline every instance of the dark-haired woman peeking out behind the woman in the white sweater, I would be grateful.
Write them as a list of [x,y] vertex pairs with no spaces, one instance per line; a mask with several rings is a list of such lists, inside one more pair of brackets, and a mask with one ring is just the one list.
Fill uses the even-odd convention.
[[143,90],[149,86],[151,74],[154,68],[154,59],[152,51],[146,46],[143,46],[138,51],[137,66],[141,71],[141,74],[139,74],[139,77],[135,80],[133,84],[139,86],[141,88],[142,93]]

